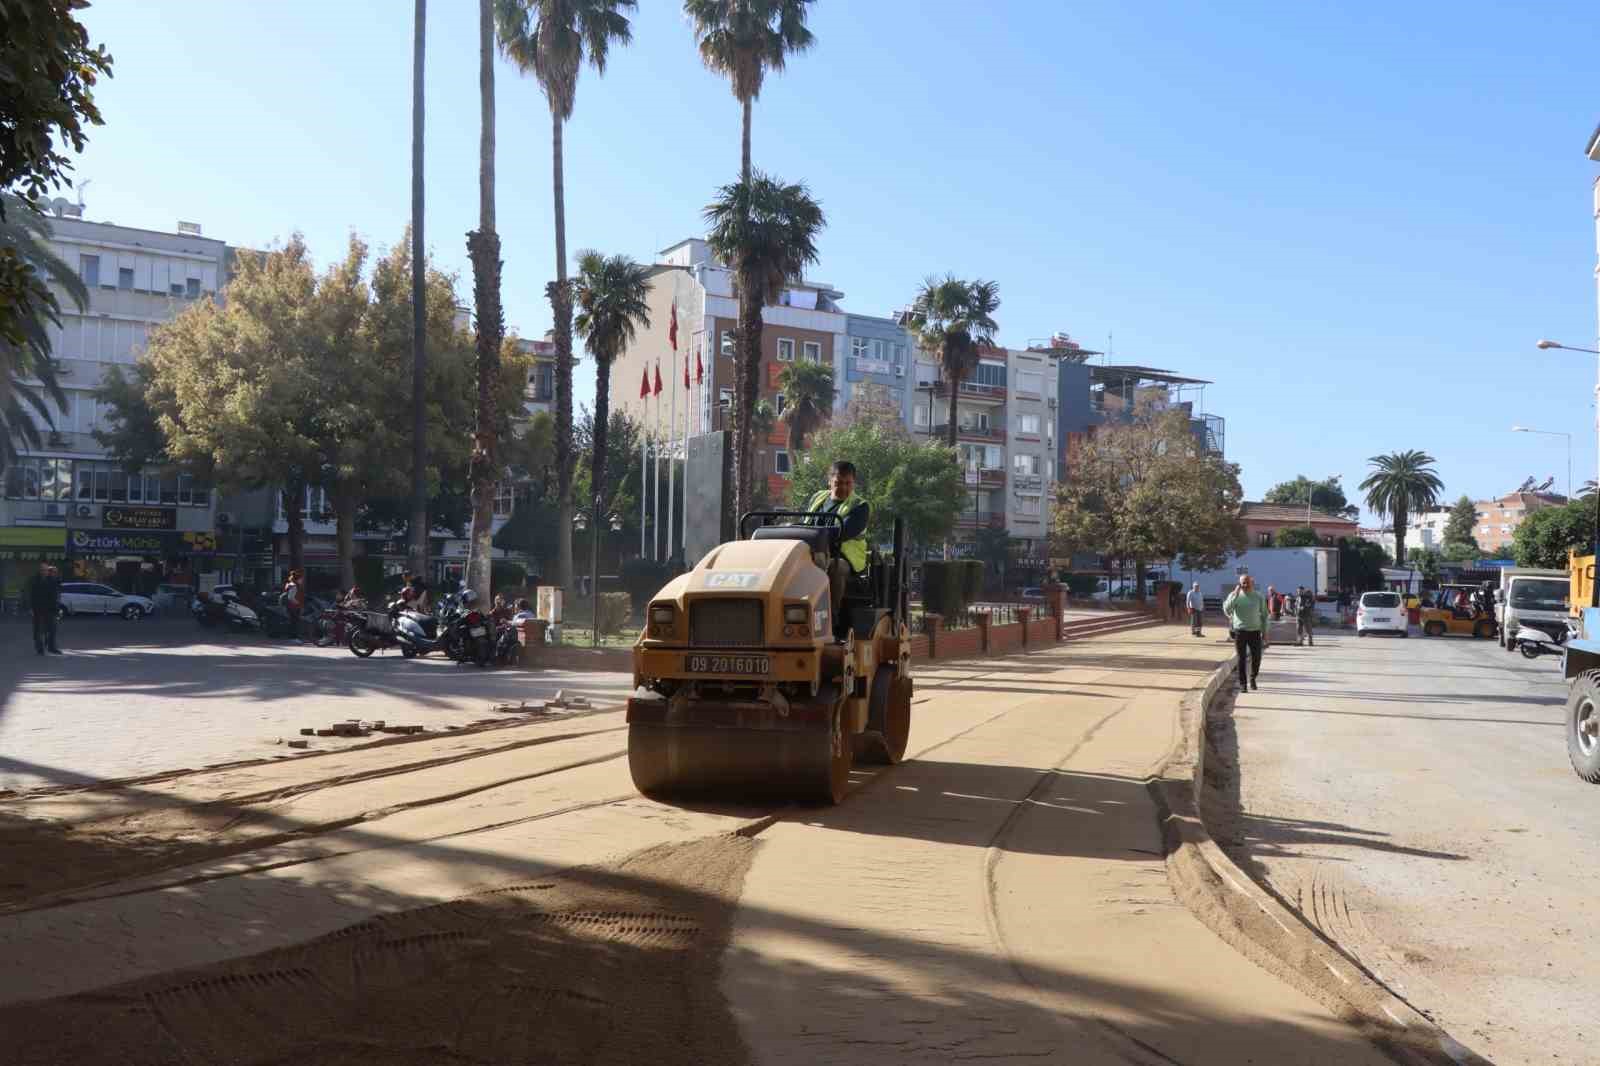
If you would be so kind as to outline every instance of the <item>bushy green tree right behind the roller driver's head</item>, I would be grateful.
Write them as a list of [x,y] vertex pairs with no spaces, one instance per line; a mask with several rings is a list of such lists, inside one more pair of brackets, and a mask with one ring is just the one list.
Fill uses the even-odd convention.
[[896,517],[906,520],[909,543],[938,544],[970,499],[954,448],[912,439],[904,426],[862,421],[818,431],[811,448],[790,466],[790,507],[805,507],[827,488],[835,459],[856,464],[856,493],[872,504],[867,538],[874,544],[890,539]]

